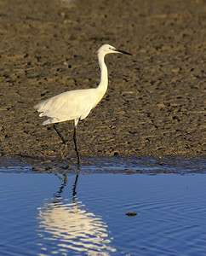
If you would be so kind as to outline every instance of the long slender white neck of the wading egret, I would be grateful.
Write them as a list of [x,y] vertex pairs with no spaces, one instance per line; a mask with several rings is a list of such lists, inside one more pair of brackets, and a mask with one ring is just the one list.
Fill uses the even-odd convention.
[[99,53],[98,61],[100,65],[100,84],[97,86],[97,90],[99,90],[102,93],[102,96],[104,96],[108,86],[108,73],[105,63],[105,55]]

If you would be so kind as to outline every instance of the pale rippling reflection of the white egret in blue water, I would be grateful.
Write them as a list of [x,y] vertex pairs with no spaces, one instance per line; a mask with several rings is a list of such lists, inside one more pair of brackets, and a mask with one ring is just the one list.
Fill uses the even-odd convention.
[[62,197],[66,187],[66,176],[59,191],[54,194],[51,202],[40,207],[38,214],[37,233],[42,237],[41,253],[38,255],[109,255],[116,249],[110,246],[107,225],[93,212],[87,212],[81,201],[77,200],[76,176],[72,201]]

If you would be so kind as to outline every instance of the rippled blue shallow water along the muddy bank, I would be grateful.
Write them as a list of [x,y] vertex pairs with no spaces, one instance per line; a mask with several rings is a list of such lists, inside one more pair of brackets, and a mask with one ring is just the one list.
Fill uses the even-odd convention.
[[203,168],[89,162],[64,176],[1,167],[0,255],[205,255]]

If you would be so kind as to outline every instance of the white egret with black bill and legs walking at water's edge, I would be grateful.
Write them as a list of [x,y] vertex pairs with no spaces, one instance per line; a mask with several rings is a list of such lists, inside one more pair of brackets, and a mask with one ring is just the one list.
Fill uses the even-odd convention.
[[[105,55],[112,53],[123,53],[131,55],[121,49],[116,49],[112,45],[103,44],[97,51],[98,61],[100,65],[100,84],[96,88],[83,89],[83,90],[69,90],[63,92],[57,96],[44,100],[43,102],[37,103],[34,106],[40,117],[47,116],[49,119],[43,122],[43,125],[53,124],[54,130],[59,135],[62,142],[65,144],[66,153],[66,140],[58,131],[56,123],[64,122],[67,120],[74,120],[74,133],[73,141],[75,145],[75,151],[77,153],[77,163],[79,164],[79,154],[77,150],[77,123],[79,120],[85,119],[90,111],[96,107],[102,97],[106,93],[108,85],[108,73],[105,63]],[[64,154],[65,154],[64,153]]]

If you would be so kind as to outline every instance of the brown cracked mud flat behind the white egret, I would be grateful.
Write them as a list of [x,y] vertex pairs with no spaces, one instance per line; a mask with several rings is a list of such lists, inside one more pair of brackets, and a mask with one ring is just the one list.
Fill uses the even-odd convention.
[[[60,158],[32,106],[95,87],[101,44],[133,55],[106,56],[109,88],[77,127],[80,154],[205,154],[205,14],[201,0],[0,0],[2,157]],[[75,157],[73,122],[59,128]]]

